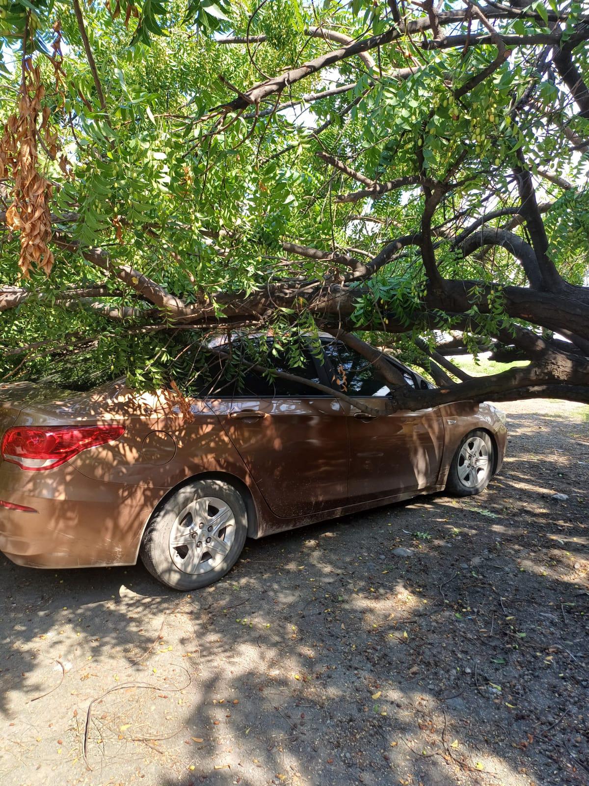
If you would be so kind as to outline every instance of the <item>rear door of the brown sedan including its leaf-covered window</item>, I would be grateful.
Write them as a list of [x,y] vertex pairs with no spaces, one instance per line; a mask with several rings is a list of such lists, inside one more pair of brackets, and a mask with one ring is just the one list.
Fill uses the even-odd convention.
[[[265,362],[329,385],[309,351],[303,351],[302,361],[290,368],[284,354],[269,353]],[[347,418],[337,399],[292,380],[269,380],[251,368],[220,393],[222,386],[211,391],[208,406],[276,516],[305,516],[346,504]]]

